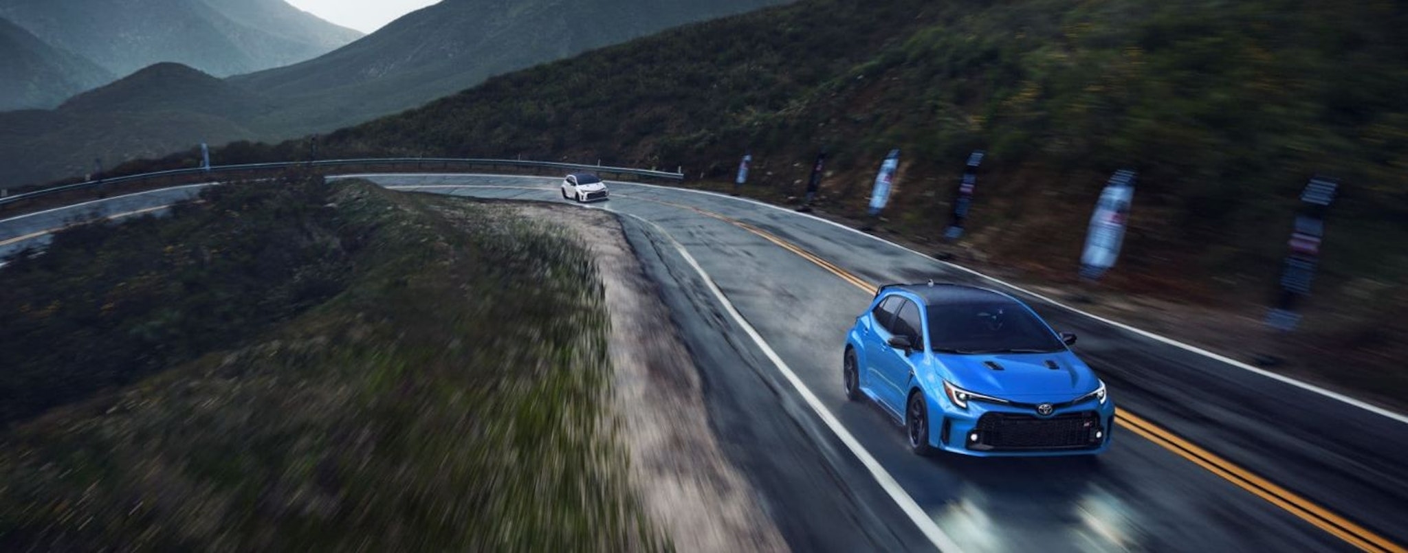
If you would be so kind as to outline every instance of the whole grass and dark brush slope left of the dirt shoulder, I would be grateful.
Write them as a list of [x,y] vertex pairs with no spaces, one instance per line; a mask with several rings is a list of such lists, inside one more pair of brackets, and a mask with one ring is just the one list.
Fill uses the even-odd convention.
[[65,404],[7,412],[0,549],[658,549],[584,248],[365,184],[203,200],[0,272],[3,404]]

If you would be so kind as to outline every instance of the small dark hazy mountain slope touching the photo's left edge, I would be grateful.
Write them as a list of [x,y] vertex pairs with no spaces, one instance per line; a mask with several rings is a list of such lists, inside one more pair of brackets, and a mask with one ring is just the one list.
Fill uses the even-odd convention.
[[113,73],[0,18],[0,111],[49,108]]

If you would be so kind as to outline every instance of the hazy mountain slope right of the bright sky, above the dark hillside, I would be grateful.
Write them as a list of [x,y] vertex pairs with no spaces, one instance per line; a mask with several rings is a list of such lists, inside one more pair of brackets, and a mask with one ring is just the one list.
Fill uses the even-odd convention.
[[327,131],[424,104],[494,75],[787,1],[445,0],[328,55],[231,82],[297,100],[266,124]]

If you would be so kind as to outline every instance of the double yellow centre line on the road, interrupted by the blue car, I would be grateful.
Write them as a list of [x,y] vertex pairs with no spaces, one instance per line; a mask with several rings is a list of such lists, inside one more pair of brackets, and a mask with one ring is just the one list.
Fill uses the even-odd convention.
[[[652,201],[658,201],[658,200],[652,200]],[[803,259],[805,259],[808,262],[815,263],[817,266],[825,269],[826,272],[829,272],[829,273],[841,277],[841,280],[845,280],[845,281],[850,283],[852,286],[855,286],[855,287],[857,287],[860,290],[865,290],[867,294],[876,294],[879,291],[879,288],[874,284],[867,283],[865,279],[856,276],[855,273],[852,273],[849,270],[845,270],[845,269],[842,269],[842,267],[836,266],[835,263],[831,263],[831,262],[828,262],[825,259],[821,259],[815,253],[811,253],[811,252],[808,252],[808,250],[805,250],[803,248],[798,248],[797,245],[794,245],[791,242],[787,242],[786,239],[781,239],[781,238],[779,238],[779,236],[776,236],[776,235],[773,235],[773,234],[770,234],[767,231],[763,231],[763,229],[760,229],[758,227],[749,225],[749,224],[742,222],[742,221],[731,220],[731,218],[719,215],[719,214],[708,212],[708,211],[696,208],[693,205],[680,205],[680,204],[672,204],[672,203],[666,203],[666,201],[658,201],[658,203],[669,204],[669,205],[676,205],[676,207],[681,207],[681,208],[689,208],[689,210],[700,212],[703,215],[707,215],[707,217],[711,217],[711,218],[715,218],[715,220],[719,220],[719,221],[729,222],[729,224],[732,224],[735,227],[739,227],[739,228],[742,228],[742,229],[745,229],[748,232],[752,232],[752,234],[755,234],[755,235],[758,235],[758,236],[760,236],[760,238],[763,238],[763,239],[766,239],[766,241],[769,241],[772,243],[776,243],[779,248],[783,248],[783,249],[786,249],[788,252],[793,252],[793,253],[798,255],[800,258],[803,258]],[[1345,540],[1346,543],[1349,543],[1349,545],[1352,545],[1354,547],[1359,547],[1360,550],[1364,550],[1364,552],[1378,552],[1378,553],[1408,553],[1408,550],[1405,550],[1402,546],[1400,546],[1400,545],[1397,545],[1394,542],[1390,542],[1388,539],[1385,539],[1385,538],[1383,538],[1383,536],[1380,536],[1380,535],[1377,535],[1377,533],[1374,533],[1374,532],[1371,532],[1371,530],[1369,530],[1369,529],[1366,529],[1366,528],[1363,528],[1363,526],[1360,526],[1360,525],[1357,525],[1354,522],[1350,522],[1345,516],[1340,516],[1340,515],[1338,515],[1335,512],[1331,512],[1329,509],[1326,509],[1324,507],[1319,507],[1319,505],[1311,502],[1309,500],[1307,500],[1307,498],[1304,498],[1304,497],[1301,497],[1301,495],[1298,495],[1298,494],[1295,494],[1295,492],[1293,492],[1290,490],[1286,490],[1286,488],[1283,488],[1280,485],[1276,485],[1276,484],[1267,481],[1266,478],[1259,477],[1259,476],[1253,474],[1252,471],[1249,471],[1246,469],[1242,469],[1242,467],[1233,464],[1232,462],[1228,462],[1226,459],[1222,459],[1222,457],[1219,457],[1219,456],[1208,452],[1207,449],[1198,447],[1197,445],[1194,445],[1194,443],[1191,443],[1191,442],[1188,442],[1188,440],[1186,440],[1183,438],[1178,438],[1173,432],[1169,432],[1169,431],[1166,431],[1166,429],[1163,429],[1163,428],[1160,428],[1160,426],[1157,426],[1157,425],[1155,425],[1155,424],[1152,424],[1152,422],[1149,422],[1149,421],[1146,421],[1146,419],[1143,419],[1143,418],[1140,418],[1140,417],[1129,412],[1128,409],[1124,409],[1124,408],[1117,408],[1115,409],[1115,424],[1118,424],[1121,428],[1125,428],[1125,429],[1128,429],[1128,431],[1131,431],[1131,432],[1133,432],[1133,433],[1136,433],[1139,436],[1143,436],[1145,439],[1148,439],[1148,440],[1150,440],[1150,442],[1162,446],[1163,449],[1167,449],[1167,450],[1178,455],[1180,457],[1184,457],[1184,459],[1195,463],[1197,466],[1200,466],[1202,469],[1207,469],[1209,473],[1217,474],[1218,477],[1222,477],[1224,480],[1226,480],[1226,481],[1229,481],[1232,484],[1236,484],[1242,490],[1246,490],[1246,491],[1255,494],[1256,497],[1260,497],[1260,498],[1266,500],[1267,502],[1270,502],[1270,504],[1273,504],[1273,505],[1284,509],[1286,512],[1290,512],[1290,514],[1298,516],[1300,519],[1302,519],[1305,522],[1309,522],[1309,523],[1315,525],[1316,528],[1319,528],[1319,529],[1322,529],[1325,532],[1329,532],[1331,535],[1333,535],[1333,536]]]

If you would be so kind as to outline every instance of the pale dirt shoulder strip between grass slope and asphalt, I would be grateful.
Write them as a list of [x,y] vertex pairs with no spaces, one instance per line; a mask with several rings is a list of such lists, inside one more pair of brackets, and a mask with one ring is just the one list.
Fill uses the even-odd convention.
[[596,255],[611,319],[614,412],[646,512],[679,550],[787,550],[710,429],[700,373],[620,222],[597,210],[517,210],[566,227]]

